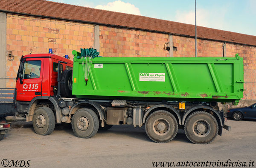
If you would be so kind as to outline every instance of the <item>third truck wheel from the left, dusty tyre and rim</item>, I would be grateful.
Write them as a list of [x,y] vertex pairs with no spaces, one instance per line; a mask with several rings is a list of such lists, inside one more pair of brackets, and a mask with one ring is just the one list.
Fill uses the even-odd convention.
[[148,137],[157,143],[171,141],[177,134],[178,123],[168,111],[158,110],[150,114],[145,123]]

